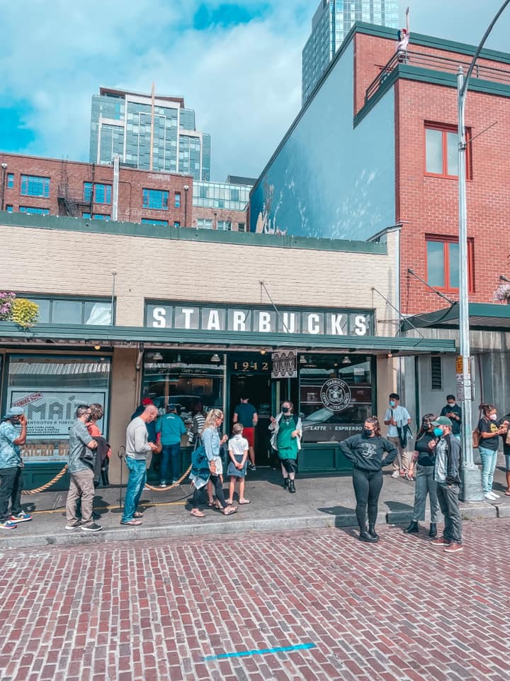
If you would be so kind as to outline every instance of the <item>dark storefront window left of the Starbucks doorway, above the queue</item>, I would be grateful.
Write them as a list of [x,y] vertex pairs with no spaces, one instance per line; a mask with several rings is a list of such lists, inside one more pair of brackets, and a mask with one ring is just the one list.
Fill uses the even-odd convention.
[[[220,359],[219,362],[212,358]],[[223,409],[222,355],[208,353],[145,353],[143,397],[150,397],[164,414],[166,404],[177,404],[186,425],[203,405],[204,411]]]

